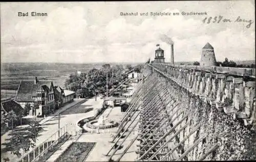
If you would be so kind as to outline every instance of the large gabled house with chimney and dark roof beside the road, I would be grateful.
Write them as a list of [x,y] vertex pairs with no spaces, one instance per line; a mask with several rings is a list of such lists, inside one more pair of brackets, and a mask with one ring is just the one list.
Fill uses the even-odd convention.
[[15,102],[23,108],[26,104],[38,104],[38,109],[30,111],[29,116],[43,116],[55,111],[54,86],[52,80],[22,80],[19,83]]

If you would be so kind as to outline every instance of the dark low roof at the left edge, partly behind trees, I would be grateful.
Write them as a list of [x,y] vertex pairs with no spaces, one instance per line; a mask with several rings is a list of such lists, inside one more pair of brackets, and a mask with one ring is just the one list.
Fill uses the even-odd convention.
[[17,115],[20,114],[20,111],[23,110],[23,107],[13,100],[8,100],[1,102],[1,110],[3,110],[5,113],[9,113],[13,110],[13,112]]

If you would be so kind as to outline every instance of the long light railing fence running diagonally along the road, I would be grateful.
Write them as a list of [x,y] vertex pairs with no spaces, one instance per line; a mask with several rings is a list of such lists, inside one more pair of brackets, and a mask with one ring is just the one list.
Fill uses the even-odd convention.
[[33,148],[31,151],[25,153],[22,157],[19,158],[18,161],[33,162],[39,159],[41,156],[46,154],[58,143],[60,143],[65,138],[70,136],[72,132],[76,132],[76,127],[74,127],[74,131],[72,131],[72,129],[69,129],[69,132],[68,132],[68,126],[71,126],[71,125],[74,125],[74,124],[66,124],[65,126],[61,127],[59,131],[56,131],[55,133],[53,133],[52,136],[50,136],[47,140],[45,140],[44,142],[42,142],[41,144]]

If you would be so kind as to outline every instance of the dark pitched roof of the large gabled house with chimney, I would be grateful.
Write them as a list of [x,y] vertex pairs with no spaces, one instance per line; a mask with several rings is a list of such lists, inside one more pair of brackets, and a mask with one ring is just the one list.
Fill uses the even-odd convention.
[[34,81],[22,80],[20,81],[15,101],[34,101],[32,96],[36,96],[36,92],[40,91],[41,88],[45,91],[49,90],[52,81],[40,81],[34,84]]

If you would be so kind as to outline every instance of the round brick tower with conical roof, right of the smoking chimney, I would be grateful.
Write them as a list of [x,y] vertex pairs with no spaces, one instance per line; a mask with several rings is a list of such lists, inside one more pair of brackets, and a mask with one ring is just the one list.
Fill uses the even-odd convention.
[[210,45],[210,43],[206,43],[206,45],[202,49],[200,65],[201,66],[216,66],[214,47],[212,47]]

